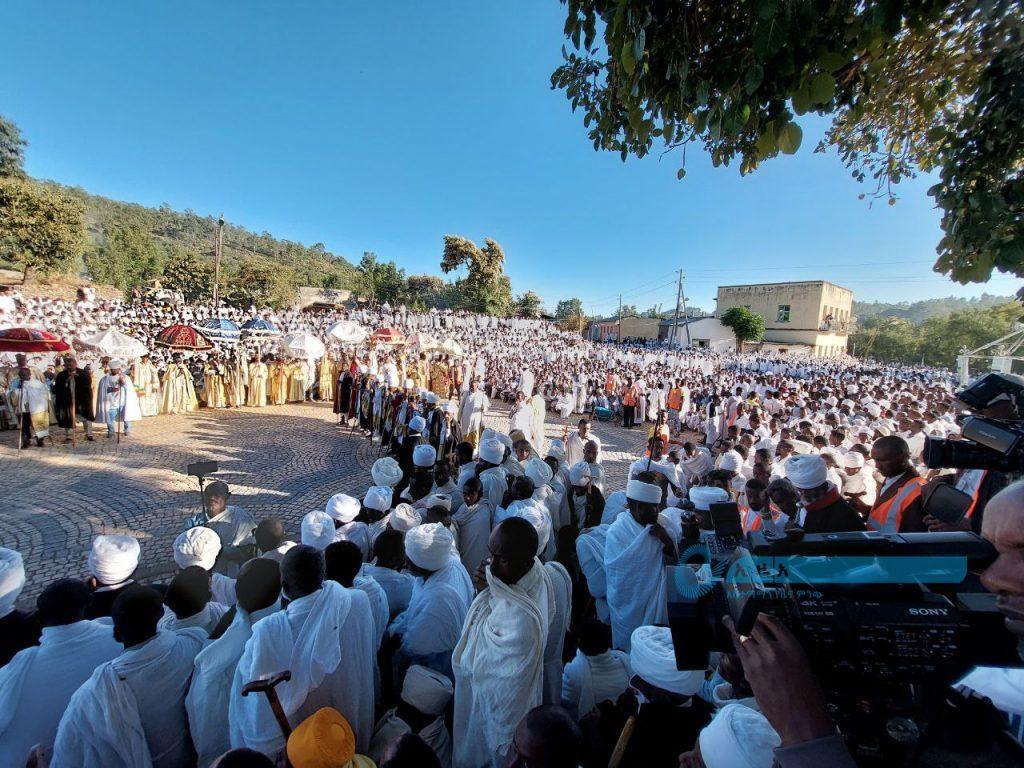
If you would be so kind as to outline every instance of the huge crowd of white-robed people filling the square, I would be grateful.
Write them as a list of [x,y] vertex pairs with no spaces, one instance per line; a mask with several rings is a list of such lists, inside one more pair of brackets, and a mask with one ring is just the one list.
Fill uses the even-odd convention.
[[[980,534],[1000,553],[982,583],[1010,629],[1024,627],[1024,486],[923,461],[929,438],[959,436],[941,371],[593,344],[541,321],[388,306],[216,313],[325,342],[347,318],[455,345],[339,344],[289,361],[246,339],[176,359],[155,334],[213,307],[18,297],[0,311],[3,326],[114,327],[152,349],[132,365],[16,360],[9,408],[27,439],[48,429],[51,401],[60,427],[117,433],[199,401],[313,397],[382,456],[365,493],[332,495],[297,530],[210,483],[167,583],[134,579],[150,543],[98,536],[88,573],[18,609],[23,559],[0,549],[4,766],[853,765],[772,616],[750,635],[730,627],[735,652],[677,669],[666,566],[714,535],[711,508],[728,502],[744,532],[765,536]],[[510,404],[507,430],[484,421],[496,400]],[[1018,400],[977,413],[1016,419]],[[595,420],[644,430],[625,483],[603,465]],[[926,511],[938,484],[969,498],[959,519]],[[694,578],[715,575],[694,565]],[[1014,671],[964,685],[998,699],[1020,737],[1024,696],[993,693],[1024,690]]]

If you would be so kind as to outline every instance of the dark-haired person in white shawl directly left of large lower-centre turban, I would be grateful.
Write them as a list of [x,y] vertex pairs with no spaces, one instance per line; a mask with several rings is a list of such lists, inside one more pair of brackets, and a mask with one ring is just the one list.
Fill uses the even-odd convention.
[[607,625],[588,618],[577,634],[580,648],[562,673],[561,705],[579,721],[602,701],[616,701],[633,671],[629,654],[611,649]]

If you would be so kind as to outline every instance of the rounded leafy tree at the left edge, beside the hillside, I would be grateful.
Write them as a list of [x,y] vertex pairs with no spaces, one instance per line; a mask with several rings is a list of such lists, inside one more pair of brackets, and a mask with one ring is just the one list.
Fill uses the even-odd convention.
[[32,272],[60,272],[85,246],[85,210],[59,189],[0,178],[0,259]]

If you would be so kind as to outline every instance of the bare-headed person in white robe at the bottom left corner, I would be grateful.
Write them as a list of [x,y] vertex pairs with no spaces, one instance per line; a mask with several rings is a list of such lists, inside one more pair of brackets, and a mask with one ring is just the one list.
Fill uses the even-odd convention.
[[72,694],[121,652],[109,624],[85,620],[89,599],[77,579],[53,582],[39,596],[39,645],[0,669],[0,765],[24,766],[36,744],[51,749]]

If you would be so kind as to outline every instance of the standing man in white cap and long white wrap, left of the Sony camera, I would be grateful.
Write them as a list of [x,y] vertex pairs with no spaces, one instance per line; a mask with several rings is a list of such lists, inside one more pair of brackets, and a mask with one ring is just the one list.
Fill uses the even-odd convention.
[[629,650],[637,627],[668,621],[665,565],[674,562],[678,542],[658,518],[658,485],[630,480],[626,498],[628,514],[618,515],[608,527],[604,547],[612,645],[622,650]]

